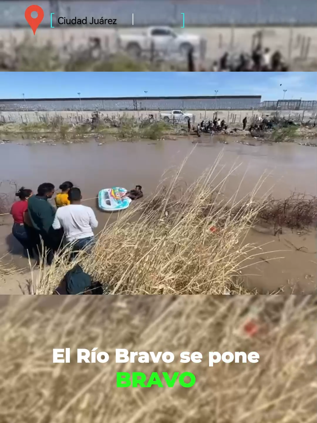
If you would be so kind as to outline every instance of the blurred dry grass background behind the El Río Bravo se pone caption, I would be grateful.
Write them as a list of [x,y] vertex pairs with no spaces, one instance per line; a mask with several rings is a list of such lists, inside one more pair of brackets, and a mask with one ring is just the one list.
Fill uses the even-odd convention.
[[[254,319],[259,331],[243,330]],[[313,423],[316,298],[309,296],[19,297],[0,311],[1,423]],[[53,348],[71,363],[53,364]],[[107,351],[78,364],[76,349]],[[171,351],[171,364],[115,363],[115,348]],[[179,353],[200,351],[202,363]],[[256,351],[256,364],[209,351]],[[190,371],[191,388],[116,387],[116,372]]]

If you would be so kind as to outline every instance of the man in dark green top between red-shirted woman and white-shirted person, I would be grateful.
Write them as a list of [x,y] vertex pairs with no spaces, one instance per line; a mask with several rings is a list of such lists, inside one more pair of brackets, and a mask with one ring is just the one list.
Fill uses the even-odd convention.
[[60,234],[54,231],[52,224],[55,217],[54,207],[47,201],[55,191],[53,184],[45,182],[38,187],[37,195],[32,195],[27,203],[27,211],[33,228],[38,231],[46,248],[47,264],[52,264],[54,253],[60,245]]

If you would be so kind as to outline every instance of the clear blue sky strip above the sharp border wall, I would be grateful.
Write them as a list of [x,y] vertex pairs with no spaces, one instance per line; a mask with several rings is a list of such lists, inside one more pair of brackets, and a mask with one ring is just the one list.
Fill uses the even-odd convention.
[[[2,72],[0,98],[261,95],[316,100],[317,72]],[[144,91],[148,91],[147,94]]]

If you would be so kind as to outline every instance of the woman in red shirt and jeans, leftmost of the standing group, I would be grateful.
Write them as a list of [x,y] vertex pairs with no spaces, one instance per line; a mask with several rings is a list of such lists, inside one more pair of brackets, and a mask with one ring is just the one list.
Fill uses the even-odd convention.
[[13,203],[10,211],[14,220],[12,233],[20,244],[22,244],[25,255],[30,258],[34,258],[33,243],[25,230],[25,214],[27,214],[27,200],[32,194],[32,190],[27,190],[24,187],[20,188],[16,193],[16,196],[19,197],[20,200]]

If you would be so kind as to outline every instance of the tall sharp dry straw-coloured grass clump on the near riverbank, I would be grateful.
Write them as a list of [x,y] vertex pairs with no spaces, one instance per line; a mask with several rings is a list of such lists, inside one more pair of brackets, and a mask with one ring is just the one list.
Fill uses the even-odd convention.
[[[220,158],[219,158],[220,159]],[[234,169],[232,170],[234,171]],[[93,280],[115,294],[225,294],[247,293],[237,282],[255,246],[245,242],[248,229],[265,205],[254,196],[221,200],[215,186],[217,162],[190,187],[179,172],[164,191],[126,210],[99,234],[90,255],[82,252],[69,263],[69,250],[42,266],[30,292],[50,294],[76,262]]]

